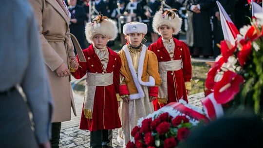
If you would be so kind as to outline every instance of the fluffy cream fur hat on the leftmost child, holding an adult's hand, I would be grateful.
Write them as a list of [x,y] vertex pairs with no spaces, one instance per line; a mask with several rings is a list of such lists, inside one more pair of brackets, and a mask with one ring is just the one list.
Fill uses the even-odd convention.
[[86,39],[89,43],[93,43],[93,37],[97,34],[109,37],[114,40],[117,37],[118,29],[116,23],[112,19],[98,15],[93,22],[88,22],[85,27]]

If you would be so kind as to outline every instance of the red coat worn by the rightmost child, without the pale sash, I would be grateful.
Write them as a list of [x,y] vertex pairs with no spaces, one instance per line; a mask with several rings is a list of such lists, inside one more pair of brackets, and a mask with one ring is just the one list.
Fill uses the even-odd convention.
[[[181,98],[188,102],[185,82],[190,82],[192,77],[191,57],[187,44],[176,38],[173,38],[173,41],[175,43],[173,60],[182,59],[183,69],[167,72],[167,104],[170,102],[177,102],[177,100]],[[155,53],[158,62],[171,60],[169,53],[163,44],[162,37],[160,37],[155,43],[150,44],[148,49]],[[156,111],[166,104],[159,104],[157,100],[154,100],[153,105],[154,110]]]

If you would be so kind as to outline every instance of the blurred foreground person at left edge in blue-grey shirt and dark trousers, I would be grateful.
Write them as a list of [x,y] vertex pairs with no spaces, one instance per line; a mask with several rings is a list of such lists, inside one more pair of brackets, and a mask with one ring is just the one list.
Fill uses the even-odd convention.
[[2,0],[0,19],[0,148],[50,148],[53,103],[33,9]]

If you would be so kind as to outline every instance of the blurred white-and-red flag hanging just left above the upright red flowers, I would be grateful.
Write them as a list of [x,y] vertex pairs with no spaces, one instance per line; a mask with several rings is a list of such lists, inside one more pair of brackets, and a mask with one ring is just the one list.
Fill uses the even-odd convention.
[[225,40],[229,40],[232,45],[235,45],[235,39],[239,34],[239,31],[234,25],[233,21],[225,12],[225,9],[221,5],[221,3],[219,1],[216,1],[216,3],[219,7],[220,20],[221,20],[221,26],[222,26],[224,38]]

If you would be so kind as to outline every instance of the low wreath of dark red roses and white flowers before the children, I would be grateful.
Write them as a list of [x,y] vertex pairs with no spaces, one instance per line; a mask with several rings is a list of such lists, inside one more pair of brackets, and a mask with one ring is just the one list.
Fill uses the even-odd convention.
[[127,148],[176,148],[199,120],[207,121],[200,109],[183,100],[170,103],[138,121]]

